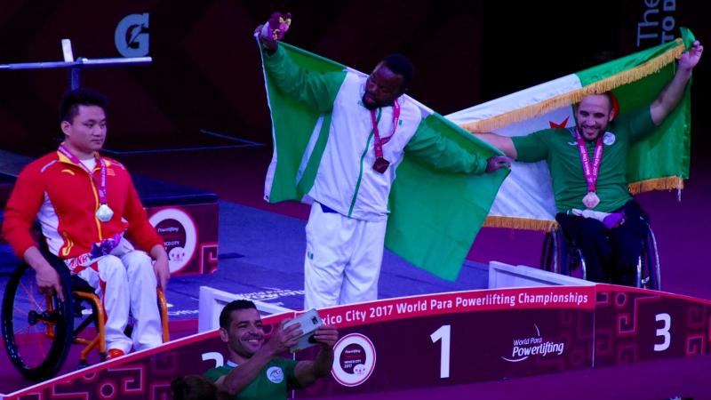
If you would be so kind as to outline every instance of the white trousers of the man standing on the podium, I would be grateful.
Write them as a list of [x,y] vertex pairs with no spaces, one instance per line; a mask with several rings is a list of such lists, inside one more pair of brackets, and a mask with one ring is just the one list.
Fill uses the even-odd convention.
[[387,220],[354,220],[314,203],[306,226],[304,309],[378,299]]

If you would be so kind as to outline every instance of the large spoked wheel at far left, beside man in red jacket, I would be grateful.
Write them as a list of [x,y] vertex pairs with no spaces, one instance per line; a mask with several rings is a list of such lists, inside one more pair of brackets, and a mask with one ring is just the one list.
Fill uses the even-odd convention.
[[5,286],[2,331],[12,364],[28,380],[45,380],[59,372],[67,358],[74,329],[68,272],[60,272],[64,301],[40,293],[35,271],[16,268]]

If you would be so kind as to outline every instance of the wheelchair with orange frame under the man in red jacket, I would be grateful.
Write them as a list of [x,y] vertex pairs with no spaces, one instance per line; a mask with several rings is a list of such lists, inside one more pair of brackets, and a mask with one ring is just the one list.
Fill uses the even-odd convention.
[[[77,369],[88,365],[87,356],[99,351],[101,361],[107,357],[104,325],[106,314],[99,296],[79,276],[72,275],[64,262],[43,249],[43,255],[59,273],[64,301],[57,293],[40,293],[35,271],[22,263],[15,268],[5,286],[2,306],[4,346],[12,364],[27,380],[46,380],[60,371],[72,343],[84,345]],[[157,288],[163,341],[169,340],[165,296]],[[94,325],[96,333],[84,330]],[[131,336],[132,325],[126,328]]]

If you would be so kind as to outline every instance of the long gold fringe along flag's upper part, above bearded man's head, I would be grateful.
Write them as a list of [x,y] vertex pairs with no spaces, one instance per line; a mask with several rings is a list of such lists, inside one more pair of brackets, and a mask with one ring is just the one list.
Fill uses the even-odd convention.
[[588,84],[578,90],[567,92],[550,99],[540,101],[536,104],[531,104],[530,106],[511,110],[500,114],[499,116],[492,116],[491,118],[467,124],[460,124],[459,126],[473,133],[491,132],[502,126],[514,124],[535,116],[541,116],[554,109],[578,103],[587,95],[608,92],[623,84],[638,81],[644,76],[649,76],[655,72],[658,72],[661,68],[664,68],[667,64],[676,60],[676,58],[685,50],[683,40],[681,38],[676,39],[676,44],[677,45],[673,49],[659,55],[658,57],[655,57],[652,60],[643,62],[637,67],[627,69],[619,74],[608,76],[595,82],[595,84]]

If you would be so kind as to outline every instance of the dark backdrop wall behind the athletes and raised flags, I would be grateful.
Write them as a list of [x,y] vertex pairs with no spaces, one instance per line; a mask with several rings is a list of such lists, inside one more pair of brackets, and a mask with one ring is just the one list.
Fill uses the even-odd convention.
[[[709,35],[703,2],[2,0],[0,63],[120,57],[119,20],[149,13],[153,64],[85,70],[82,84],[112,100],[109,148],[196,145],[201,129],[269,143],[268,108],[253,29],[274,10],[293,14],[286,41],[370,71],[389,52],[416,66],[411,95],[448,114],[634,52],[638,22],[673,20]],[[647,32],[647,31],[645,31]],[[645,39],[641,47],[659,44]],[[708,158],[709,60],[694,76],[694,160]],[[65,70],[0,70],[0,148],[38,156],[56,146]]]

